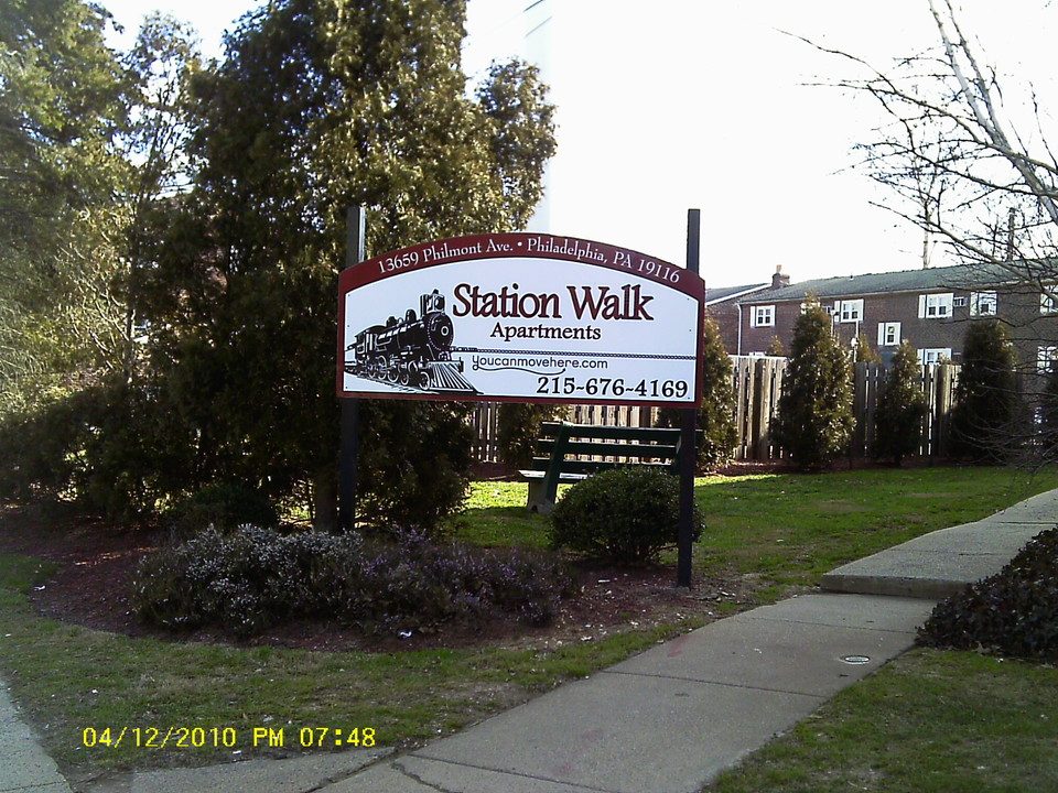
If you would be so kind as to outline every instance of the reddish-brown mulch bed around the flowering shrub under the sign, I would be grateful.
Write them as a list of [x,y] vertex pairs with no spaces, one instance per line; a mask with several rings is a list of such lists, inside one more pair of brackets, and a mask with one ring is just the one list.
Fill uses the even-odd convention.
[[0,507],[0,552],[56,562],[56,573],[30,594],[45,617],[127,636],[226,644],[271,644],[310,650],[395,650],[436,647],[548,647],[583,641],[629,627],[651,627],[680,618],[711,619],[717,604],[747,604],[752,578],[698,580],[674,586],[669,567],[615,569],[580,563],[581,593],[564,601],[548,628],[529,629],[514,621],[445,624],[432,633],[408,638],[379,636],[338,622],[293,621],[248,641],[217,629],[174,636],[144,624],[132,613],[130,585],[143,556],[168,541],[156,531],[130,531],[72,513],[62,506]]

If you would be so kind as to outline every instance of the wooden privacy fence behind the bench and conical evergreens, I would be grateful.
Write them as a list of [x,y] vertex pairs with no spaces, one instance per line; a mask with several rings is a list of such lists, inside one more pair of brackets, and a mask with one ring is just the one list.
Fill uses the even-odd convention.
[[[773,445],[771,427],[779,410],[786,358],[731,356],[735,392],[734,458],[769,460],[780,457]],[[885,385],[887,369],[882,363],[856,363],[853,370],[853,415],[856,420],[850,443],[852,457],[867,457],[874,443],[874,416],[878,395]],[[926,394],[927,414],[919,454],[942,457],[948,450],[951,416],[959,366],[931,363],[921,367],[919,383]],[[474,457],[483,463],[499,461],[496,448],[499,405],[479,403],[472,415],[475,430]],[[606,426],[654,426],[656,408],[637,405],[569,405],[566,421]]]

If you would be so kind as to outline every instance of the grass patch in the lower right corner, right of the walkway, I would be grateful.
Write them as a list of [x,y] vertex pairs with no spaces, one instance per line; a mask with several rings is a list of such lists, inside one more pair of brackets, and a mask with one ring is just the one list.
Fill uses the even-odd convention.
[[709,793],[1058,790],[1058,670],[915,650],[845,688]]

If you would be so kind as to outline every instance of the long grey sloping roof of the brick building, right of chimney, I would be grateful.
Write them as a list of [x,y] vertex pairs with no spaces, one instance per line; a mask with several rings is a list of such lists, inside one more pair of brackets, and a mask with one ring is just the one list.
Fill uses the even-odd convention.
[[947,268],[902,270],[887,273],[867,273],[845,278],[816,279],[767,290],[739,300],[739,303],[802,301],[808,294],[820,298],[889,294],[893,292],[928,292],[952,289],[980,289],[1017,281],[1008,270],[998,264],[958,264]]

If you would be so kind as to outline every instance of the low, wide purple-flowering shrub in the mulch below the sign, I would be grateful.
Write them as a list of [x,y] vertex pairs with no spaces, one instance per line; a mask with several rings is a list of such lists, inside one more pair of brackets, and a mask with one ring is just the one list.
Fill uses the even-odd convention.
[[245,638],[285,619],[387,632],[503,615],[544,624],[572,590],[558,560],[517,550],[442,546],[423,534],[386,543],[242,526],[229,534],[208,529],[145,557],[133,605],[153,624],[216,624]]

